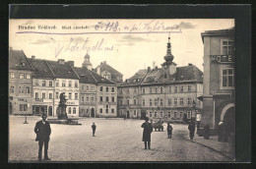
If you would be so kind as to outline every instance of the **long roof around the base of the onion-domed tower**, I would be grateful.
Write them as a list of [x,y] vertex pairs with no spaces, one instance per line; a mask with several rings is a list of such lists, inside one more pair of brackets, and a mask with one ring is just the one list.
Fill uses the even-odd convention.
[[173,79],[164,81],[162,69],[153,69],[148,72],[147,69],[138,71],[133,77],[128,79],[122,85],[136,84],[163,84],[163,83],[182,83],[199,82],[203,83],[203,72],[194,65],[177,67],[176,73],[171,76]]

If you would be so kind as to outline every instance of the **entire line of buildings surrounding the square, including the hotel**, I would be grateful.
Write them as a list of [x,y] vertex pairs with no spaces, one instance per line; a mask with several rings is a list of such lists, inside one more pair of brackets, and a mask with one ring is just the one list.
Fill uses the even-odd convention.
[[71,116],[182,121],[201,114],[201,125],[210,125],[211,131],[224,122],[234,132],[234,28],[201,36],[204,74],[192,64],[177,67],[168,40],[160,68],[139,70],[124,82],[105,62],[93,69],[88,54],[78,68],[73,61],[27,58],[23,51],[11,49],[10,114],[56,116],[59,94],[65,92]]

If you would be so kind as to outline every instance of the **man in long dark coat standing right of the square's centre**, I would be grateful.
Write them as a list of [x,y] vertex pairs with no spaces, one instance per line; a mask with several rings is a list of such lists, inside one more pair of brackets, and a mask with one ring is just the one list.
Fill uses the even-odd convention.
[[147,144],[148,148],[151,149],[151,134],[153,132],[153,127],[152,124],[149,123],[148,117],[145,118],[145,123],[142,124],[142,128],[144,128],[142,141],[144,141],[145,149],[147,149]]

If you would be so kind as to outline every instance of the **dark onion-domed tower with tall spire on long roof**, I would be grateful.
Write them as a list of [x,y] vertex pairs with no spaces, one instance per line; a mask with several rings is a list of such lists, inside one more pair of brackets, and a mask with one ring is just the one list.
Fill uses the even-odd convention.
[[163,57],[165,62],[161,64],[163,70],[163,79],[166,81],[175,80],[175,77],[173,75],[176,73],[176,64],[172,62],[174,56],[171,54],[171,44],[169,42],[169,39],[170,37],[168,36],[167,51],[166,55]]

